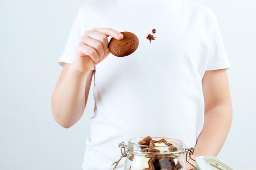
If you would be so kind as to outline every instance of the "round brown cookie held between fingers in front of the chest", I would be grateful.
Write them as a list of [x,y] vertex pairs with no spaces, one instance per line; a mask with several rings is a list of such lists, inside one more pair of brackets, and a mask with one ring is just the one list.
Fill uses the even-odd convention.
[[134,33],[121,32],[124,35],[122,40],[111,38],[108,48],[117,57],[125,57],[133,53],[139,46],[139,39]]

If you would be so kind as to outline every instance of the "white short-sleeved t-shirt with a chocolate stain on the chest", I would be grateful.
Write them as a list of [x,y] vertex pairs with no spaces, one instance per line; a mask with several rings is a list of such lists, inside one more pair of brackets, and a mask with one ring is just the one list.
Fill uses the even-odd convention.
[[[204,72],[230,67],[211,10],[187,0],[88,2],[78,12],[61,65],[74,60],[84,31],[94,27],[135,33],[139,47],[95,66],[94,117],[82,168],[112,169],[121,155],[118,144],[134,137],[169,137],[194,147],[204,122]],[[151,43],[148,34],[155,37]]]

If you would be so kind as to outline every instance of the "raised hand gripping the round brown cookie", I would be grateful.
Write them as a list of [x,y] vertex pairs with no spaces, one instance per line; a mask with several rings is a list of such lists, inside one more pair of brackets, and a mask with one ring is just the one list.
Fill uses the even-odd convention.
[[109,36],[117,40],[124,38],[124,35],[111,28],[94,28],[85,31],[76,47],[75,60],[72,63],[76,70],[89,71],[110,54]]

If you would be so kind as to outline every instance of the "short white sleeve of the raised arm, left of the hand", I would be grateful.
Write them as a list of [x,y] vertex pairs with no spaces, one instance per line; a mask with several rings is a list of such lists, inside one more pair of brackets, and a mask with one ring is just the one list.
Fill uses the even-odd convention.
[[79,9],[74,24],[70,30],[65,49],[58,60],[58,63],[61,66],[63,66],[65,63],[72,63],[74,61],[76,46],[83,36],[83,33],[87,30],[85,23],[83,11]]

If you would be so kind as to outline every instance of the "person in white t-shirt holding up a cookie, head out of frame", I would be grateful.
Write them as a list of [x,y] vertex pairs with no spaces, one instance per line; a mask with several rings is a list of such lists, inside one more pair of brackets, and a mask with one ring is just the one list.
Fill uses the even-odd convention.
[[[139,46],[129,56],[115,57],[108,42],[121,40],[122,31],[137,35]],[[148,34],[155,37],[151,42]],[[112,169],[118,144],[134,137],[179,139],[184,148],[195,148],[194,158],[216,157],[225,143],[232,120],[226,71],[231,66],[216,16],[201,4],[88,1],[58,62],[63,70],[52,112],[64,128],[82,117],[94,83],[84,170]],[[117,169],[123,169],[122,161]]]

